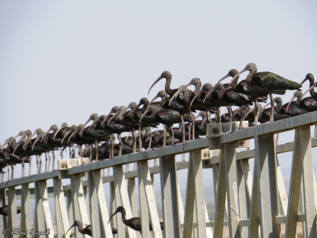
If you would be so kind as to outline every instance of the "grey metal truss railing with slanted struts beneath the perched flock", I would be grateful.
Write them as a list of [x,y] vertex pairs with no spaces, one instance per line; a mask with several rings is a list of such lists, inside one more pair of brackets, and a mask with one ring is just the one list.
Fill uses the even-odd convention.
[[[47,237],[63,237],[74,220],[92,224],[93,237],[113,237],[111,226],[118,230],[115,237],[139,237],[139,232],[125,228],[120,215],[108,224],[109,215],[118,206],[126,209],[127,218],[138,216],[139,191],[142,237],[150,237],[150,233],[152,237],[225,237],[225,226],[229,227],[230,237],[280,237],[283,223],[285,237],[295,237],[297,222],[302,222],[305,237],[317,237],[317,184],[312,158],[312,146],[317,146],[317,139],[310,134],[310,126],[317,124],[317,112],[219,134],[228,130],[228,124],[209,124],[208,136],[195,141],[99,162],[84,160],[85,164],[81,159],[60,160],[59,170],[1,183],[0,203],[8,204],[8,216],[0,216],[0,229],[12,231],[17,227],[16,200],[20,199],[22,231],[30,230],[30,214],[34,213],[35,228],[51,230]],[[238,123],[233,126],[237,128]],[[294,142],[275,145],[274,135],[288,130],[295,131]],[[255,149],[237,153],[236,148],[249,147],[249,140],[254,140]],[[277,154],[292,150],[287,195]],[[189,153],[189,161],[176,162],[176,155],[183,153]],[[148,160],[155,158],[159,158],[159,166],[149,168]],[[253,174],[249,163],[252,158]],[[130,163],[137,163],[137,170],[124,173],[123,165]],[[113,169],[113,175],[102,177],[101,170],[107,168]],[[203,183],[204,168],[213,169],[211,184]],[[180,195],[178,169],[188,169],[185,201]],[[154,174],[160,176],[163,231],[153,189]],[[85,175],[87,181],[82,180]],[[53,188],[47,186],[51,179]],[[62,179],[71,182],[62,186]],[[34,183],[34,189],[29,188],[30,183]],[[110,185],[110,191],[104,190],[105,183]],[[215,189],[213,221],[208,217],[204,200],[204,186],[209,185]],[[110,204],[105,194],[110,194]],[[49,207],[49,196],[54,197],[54,210]],[[32,197],[34,211],[30,209]],[[56,228],[52,213],[56,215]],[[77,229],[74,235],[82,237]]]

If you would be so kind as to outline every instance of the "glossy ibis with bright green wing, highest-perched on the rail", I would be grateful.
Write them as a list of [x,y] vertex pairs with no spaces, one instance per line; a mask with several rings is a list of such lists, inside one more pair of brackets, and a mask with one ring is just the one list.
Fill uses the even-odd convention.
[[246,82],[249,86],[258,87],[267,90],[270,100],[271,100],[271,115],[270,122],[273,121],[274,115],[274,94],[284,95],[286,90],[296,90],[301,88],[300,83],[288,80],[271,72],[257,72],[256,64],[249,63],[242,69],[236,76],[239,76],[245,71],[249,71],[249,74],[246,78]]

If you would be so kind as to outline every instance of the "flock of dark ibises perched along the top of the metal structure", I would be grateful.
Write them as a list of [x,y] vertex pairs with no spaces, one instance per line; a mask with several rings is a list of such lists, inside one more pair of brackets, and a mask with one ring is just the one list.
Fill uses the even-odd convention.
[[[245,71],[249,71],[248,76],[239,81],[240,74]],[[232,77],[230,82],[221,83],[228,77]],[[38,173],[42,172],[43,154],[46,161],[44,170],[48,171],[51,164],[54,169],[56,150],[60,150],[62,156],[62,151],[69,148],[70,158],[74,158],[78,148],[81,157],[98,161],[197,139],[206,135],[207,123],[211,122],[248,120],[249,126],[256,126],[258,122],[272,122],[317,110],[317,95],[314,91],[317,82],[314,82],[314,76],[310,73],[301,83],[296,83],[271,72],[257,72],[256,64],[249,63],[240,72],[231,69],[214,86],[210,83],[202,85],[199,78],[193,78],[189,83],[171,89],[171,73],[164,71],[151,85],[149,92],[161,79],[166,80],[165,90],[160,90],[151,101],[143,97],[139,103],[130,102],[126,107],[114,106],[107,116],[93,113],[87,122],[78,126],[68,126],[64,122],[59,128],[52,125],[47,131],[36,129],[33,133],[25,130],[8,138],[0,147],[1,181],[3,168],[9,166],[11,177],[8,169],[8,179],[13,179],[15,164],[22,164],[24,176],[24,165],[31,163],[31,156],[36,157]],[[300,88],[307,80],[310,88],[306,92],[309,91],[311,96],[303,98]],[[194,91],[187,89],[190,85],[195,86]],[[283,104],[280,97],[273,98],[273,94],[283,95],[286,90],[295,90],[289,103]],[[270,103],[262,107],[259,102],[266,102],[268,96]],[[155,101],[157,98],[160,101]],[[250,108],[253,103],[254,108]],[[268,105],[271,108],[266,108]],[[232,106],[239,108],[232,110]],[[221,115],[220,107],[227,107],[228,113]],[[200,112],[194,116],[193,112],[197,111]],[[215,114],[215,117],[211,118],[211,114]],[[202,119],[197,120],[198,117]],[[92,124],[86,127],[90,121]],[[159,124],[163,124],[164,130],[152,132],[152,128]],[[173,127],[174,124],[179,127]],[[239,129],[241,126],[242,123]],[[123,132],[130,134],[121,137]],[[118,144],[114,143],[115,134]]]

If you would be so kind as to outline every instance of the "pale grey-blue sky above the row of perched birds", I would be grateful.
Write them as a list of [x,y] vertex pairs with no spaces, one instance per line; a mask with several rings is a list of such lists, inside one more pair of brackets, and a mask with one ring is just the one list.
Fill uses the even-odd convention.
[[[172,88],[193,77],[214,84],[251,62],[301,82],[317,74],[316,9],[315,1],[1,1],[0,143],[138,102],[164,70]],[[164,80],[147,97],[161,89]]]

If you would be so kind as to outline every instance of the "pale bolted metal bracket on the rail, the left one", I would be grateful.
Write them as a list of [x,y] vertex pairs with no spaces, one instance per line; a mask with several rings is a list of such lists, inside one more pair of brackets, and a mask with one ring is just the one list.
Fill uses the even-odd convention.
[[[65,160],[58,160],[58,178],[64,179],[64,178],[70,178],[68,175],[68,169],[87,164],[89,161],[89,158],[74,158],[74,159],[65,159]],[[86,172],[80,174],[81,177],[87,177]]]

